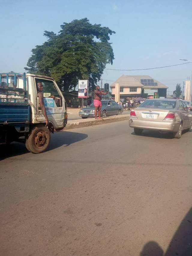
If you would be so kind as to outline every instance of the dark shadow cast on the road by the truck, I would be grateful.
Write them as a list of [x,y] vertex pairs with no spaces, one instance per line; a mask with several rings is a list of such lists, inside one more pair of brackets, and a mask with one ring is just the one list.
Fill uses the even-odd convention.
[[[61,146],[69,146],[72,143],[76,143],[80,140],[84,140],[88,137],[87,134],[77,133],[71,131],[60,131],[55,134],[51,134],[51,142],[47,151],[56,149]],[[29,153],[24,143],[13,142],[10,145],[0,145],[0,160],[9,158],[16,155],[23,155]],[[43,154],[43,153],[42,153]]]

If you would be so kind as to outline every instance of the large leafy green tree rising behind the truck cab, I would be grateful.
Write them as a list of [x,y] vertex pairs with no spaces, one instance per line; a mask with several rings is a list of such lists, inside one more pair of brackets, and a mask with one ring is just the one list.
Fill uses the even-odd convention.
[[44,31],[48,40],[32,49],[25,69],[53,77],[62,90],[74,88],[78,79],[88,79],[93,89],[107,63],[113,64],[109,42],[113,33],[108,27],[92,25],[87,18],[63,23],[58,35]]

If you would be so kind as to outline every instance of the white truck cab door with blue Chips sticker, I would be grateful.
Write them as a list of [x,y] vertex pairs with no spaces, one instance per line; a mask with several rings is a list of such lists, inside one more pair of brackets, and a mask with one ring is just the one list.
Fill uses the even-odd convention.
[[[52,122],[55,125],[55,128],[63,127],[64,102],[60,90],[57,88],[53,80],[35,78],[37,90],[38,82],[41,82],[43,85],[44,105],[49,122]],[[38,97],[36,119],[38,122],[45,122]]]

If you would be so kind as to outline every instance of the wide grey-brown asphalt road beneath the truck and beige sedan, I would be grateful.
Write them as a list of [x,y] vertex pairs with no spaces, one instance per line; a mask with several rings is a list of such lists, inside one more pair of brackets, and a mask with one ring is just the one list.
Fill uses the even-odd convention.
[[1,146],[0,255],[192,255],[191,145],[123,121],[56,133],[39,155]]

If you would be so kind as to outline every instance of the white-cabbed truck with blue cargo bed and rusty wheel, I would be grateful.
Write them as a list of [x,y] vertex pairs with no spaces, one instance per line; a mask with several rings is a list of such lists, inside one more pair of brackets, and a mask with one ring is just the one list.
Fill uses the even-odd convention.
[[[38,81],[44,83],[45,100],[53,93],[58,99],[55,103],[49,98],[52,101],[52,111],[47,107],[49,127],[45,126],[38,102]],[[50,142],[50,131],[59,131],[65,127],[66,112],[64,97],[52,78],[13,72],[0,74],[0,144],[18,141],[25,143],[32,153],[44,152]]]

